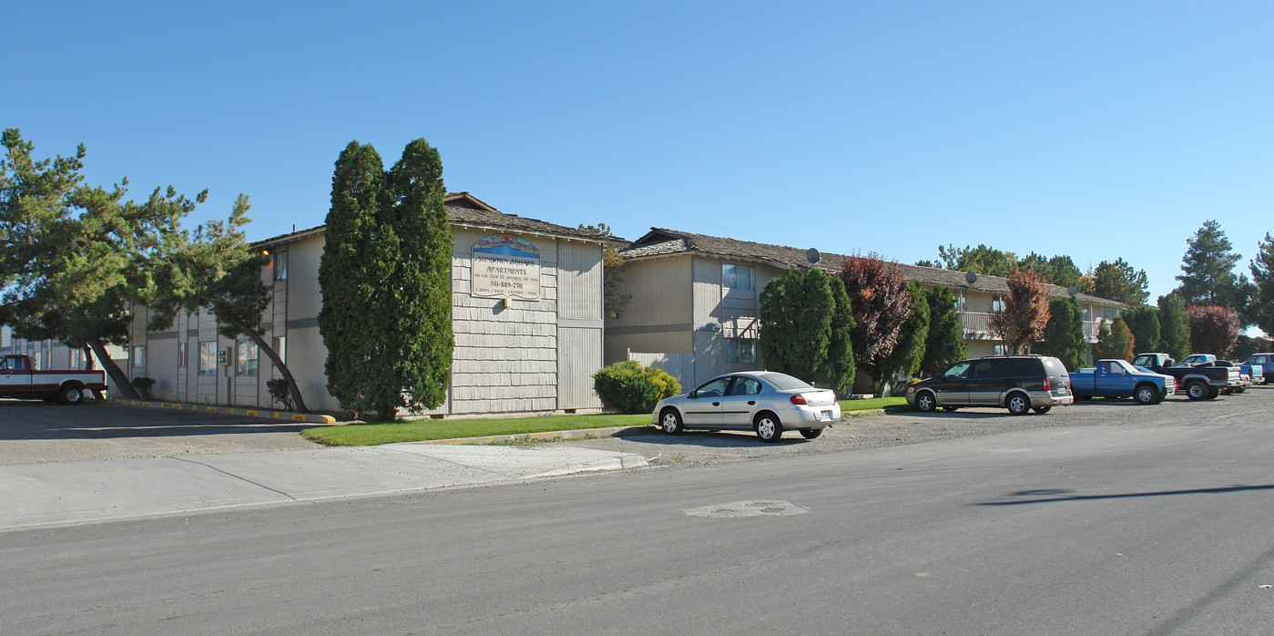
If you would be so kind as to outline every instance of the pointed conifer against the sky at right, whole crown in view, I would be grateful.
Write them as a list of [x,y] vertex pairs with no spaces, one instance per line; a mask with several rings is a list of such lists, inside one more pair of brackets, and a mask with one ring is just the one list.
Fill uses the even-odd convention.
[[1181,275],[1177,277],[1181,300],[1186,305],[1220,305],[1242,311],[1242,306],[1235,305],[1240,292],[1235,265],[1241,257],[1220,224],[1205,222],[1186,242],[1186,254],[1181,257]]

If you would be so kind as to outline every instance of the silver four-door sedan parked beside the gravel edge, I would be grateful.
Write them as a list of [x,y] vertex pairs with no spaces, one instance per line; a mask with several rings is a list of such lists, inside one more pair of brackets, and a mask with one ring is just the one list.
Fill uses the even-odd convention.
[[806,440],[841,419],[836,391],[815,389],[786,373],[741,371],[713,377],[691,393],[655,405],[655,426],[668,435],[688,428],[755,431],[773,442],[796,430]]

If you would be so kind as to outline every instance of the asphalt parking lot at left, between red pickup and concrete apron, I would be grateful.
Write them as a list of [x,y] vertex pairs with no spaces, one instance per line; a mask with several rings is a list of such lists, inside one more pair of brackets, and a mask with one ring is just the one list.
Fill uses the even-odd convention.
[[0,399],[0,465],[320,447],[316,424],[195,410]]

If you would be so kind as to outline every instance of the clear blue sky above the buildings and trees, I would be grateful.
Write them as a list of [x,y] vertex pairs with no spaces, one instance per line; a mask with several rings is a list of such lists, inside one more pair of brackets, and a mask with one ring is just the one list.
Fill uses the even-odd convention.
[[[448,190],[903,263],[1122,256],[1154,296],[1217,219],[1274,232],[1274,3],[11,3],[0,126],[92,184],[324,223],[352,139]],[[1152,296],[1153,300],[1153,296]]]

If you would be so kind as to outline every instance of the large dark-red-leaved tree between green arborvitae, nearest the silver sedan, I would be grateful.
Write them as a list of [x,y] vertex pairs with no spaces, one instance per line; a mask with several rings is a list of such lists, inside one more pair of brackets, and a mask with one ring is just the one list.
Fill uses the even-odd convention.
[[880,395],[880,363],[893,352],[898,329],[911,316],[911,294],[897,263],[885,261],[875,252],[855,254],[845,259],[841,280],[850,296],[855,326],[850,331],[854,359],[871,377],[873,393]]

